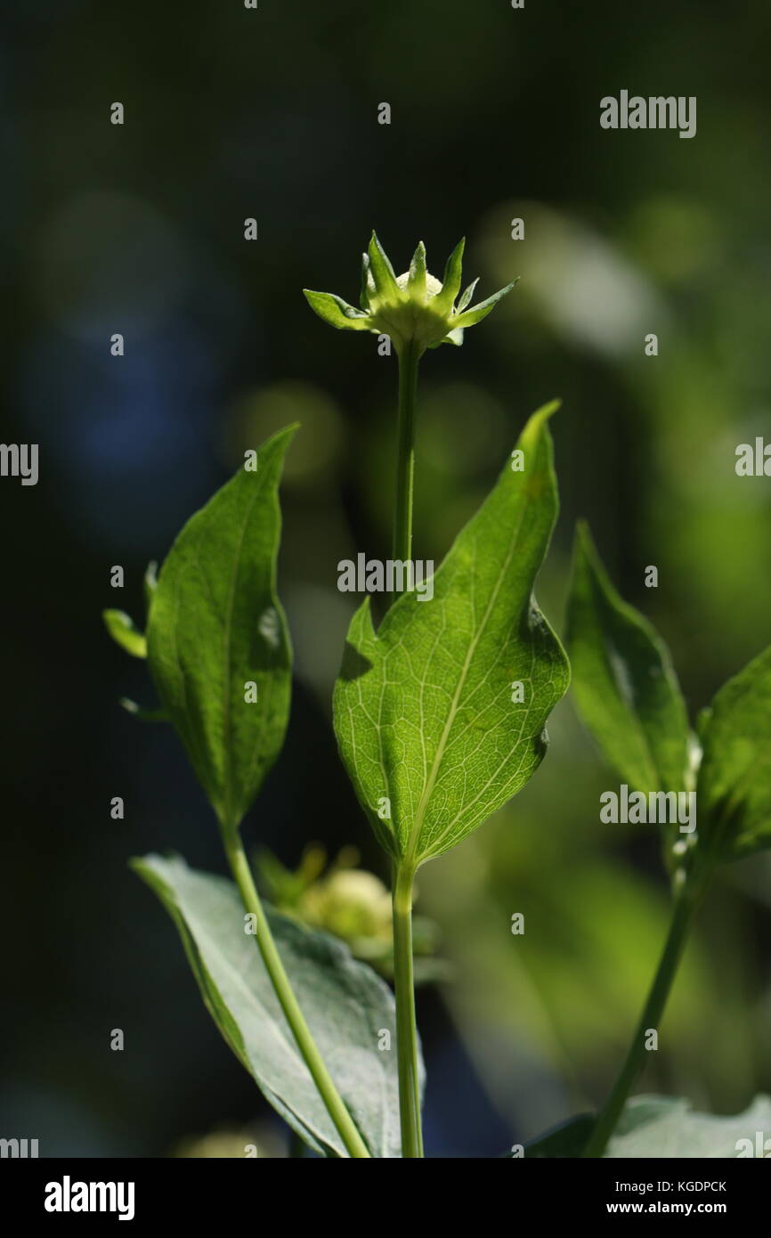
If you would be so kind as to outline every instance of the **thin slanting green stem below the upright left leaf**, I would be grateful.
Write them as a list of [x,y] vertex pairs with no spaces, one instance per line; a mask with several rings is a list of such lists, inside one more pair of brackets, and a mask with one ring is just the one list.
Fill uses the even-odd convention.
[[228,863],[230,864],[235,883],[239,888],[244,907],[255,917],[257,946],[260,948],[260,954],[262,956],[262,962],[265,963],[271,984],[274,985],[274,990],[278,998],[286,1021],[292,1030],[292,1035],[295,1036],[303,1061],[311,1072],[319,1096],[327,1107],[327,1112],[332,1118],[340,1139],[345,1144],[349,1155],[356,1159],[369,1158],[369,1150],[359,1134],[350,1113],[345,1108],[345,1104],[343,1103],[343,1099],[332,1081],[329,1071],[324,1066],[316,1041],[311,1035],[311,1029],[304,1020],[302,1010],[297,1003],[297,998],[295,997],[290,984],[290,979],[283,968],[283,963],[281,962],[281,956],[276,948],[276,942],[274,941],[274,935],[270,930],[260,895],[257,894],[251,877],[251,870],[244,853],[238,827],[224,827],[223,839],[228,855]]

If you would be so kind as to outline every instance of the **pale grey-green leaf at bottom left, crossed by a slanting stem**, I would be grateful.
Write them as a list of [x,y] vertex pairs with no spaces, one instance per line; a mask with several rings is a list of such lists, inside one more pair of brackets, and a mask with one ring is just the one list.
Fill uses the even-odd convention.
[[[204,1003],[239,1061],[281,1117],[317,1151],[345,1156],[283,1018],[235,885],[181,857],[132,868],[174,921]],[[401,1155],[394,997],[347,946],[266,909],[313,1037],[374,1156]],[[381,1050],[382,1031],[391,1034]]]

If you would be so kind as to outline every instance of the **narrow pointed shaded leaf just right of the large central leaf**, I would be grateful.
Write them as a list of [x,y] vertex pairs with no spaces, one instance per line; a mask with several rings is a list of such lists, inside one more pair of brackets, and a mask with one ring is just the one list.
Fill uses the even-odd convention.
[[567,647],[580,714],[621,779],[644,794],[689,790],[688,717],[667,647],[621,600],[583,525]]

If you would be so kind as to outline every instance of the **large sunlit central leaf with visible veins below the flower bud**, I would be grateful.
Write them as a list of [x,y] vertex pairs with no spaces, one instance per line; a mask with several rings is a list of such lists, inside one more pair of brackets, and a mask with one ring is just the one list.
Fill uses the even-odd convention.
[[[506,462],[433,577],[433,598],[405,593],[377,634],[366,599],[350,624],[338,744],[381,844],[407,865],[449,851],[525,786],[568,686],[562,646],[531,597],[557,515],[546,426],[556,407],[530,418],[523,470]],[[512,702],[519,682],[522,703]]]

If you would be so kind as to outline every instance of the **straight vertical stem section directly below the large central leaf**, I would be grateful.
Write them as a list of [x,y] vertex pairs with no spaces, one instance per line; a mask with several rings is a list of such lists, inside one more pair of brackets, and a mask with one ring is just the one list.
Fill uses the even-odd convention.
[[394,982],[396,989],[396,1054],[398,1060],[398,1117],[401,1154],[423,1155],[421,1088],[418,1077],[415,979],[412,974],[412,868],[394,874]]

